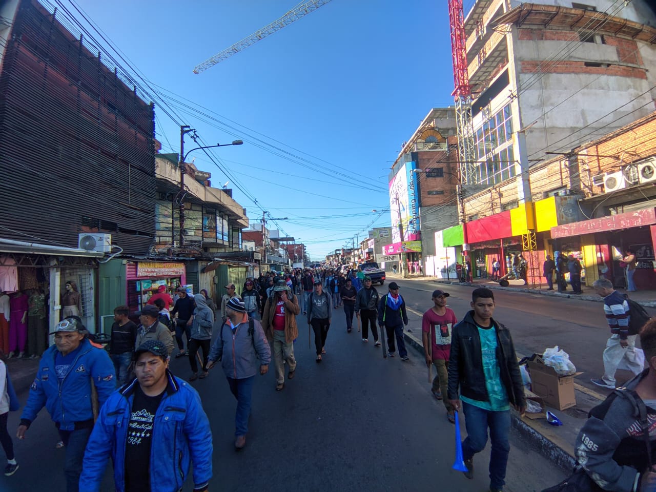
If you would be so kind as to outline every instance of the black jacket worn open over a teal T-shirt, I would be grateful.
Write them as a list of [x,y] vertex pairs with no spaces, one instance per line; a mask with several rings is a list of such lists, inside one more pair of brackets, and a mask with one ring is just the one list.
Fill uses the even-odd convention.
[[[508,401],[522,407],[525,405],[524,387],[510,331],[494,319],[491,319],[491,322],[497,333],[497,361],[501,368],[501,382],[506,388]],[[458,400],[459,387],[462,396],[478,401],[489,400],[485,373],[483,373],[481,338],[478,335],[473,310],[468,312],[451,331],[448,372],[449,400]]]

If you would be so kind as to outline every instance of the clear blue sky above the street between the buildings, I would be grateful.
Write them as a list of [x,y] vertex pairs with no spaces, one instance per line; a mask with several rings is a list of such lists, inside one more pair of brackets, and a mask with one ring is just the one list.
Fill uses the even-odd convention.
[[[371,210],[389,208],[401,144],[431,108],[453,104],[447,0],[332,0],[199,75],[194,66],[298,1],[73,1],[204,142],[244,140],[213,152],[230,176],[202,151],[195,164],[213,186],[230,181],[251,221],[258,205],[288,217],[277,226],[313,259],[390,224]],[[163,152],[178,152],[179,123],[155,112]]]

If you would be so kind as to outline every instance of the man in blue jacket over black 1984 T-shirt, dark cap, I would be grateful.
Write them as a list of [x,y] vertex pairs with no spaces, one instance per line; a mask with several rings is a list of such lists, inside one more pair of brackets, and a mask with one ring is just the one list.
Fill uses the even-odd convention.
[[98,492],[111,456],[117,492],[176,492],[194,466],[194,491],[212,478],[212,432],[198,393],[169,371],[148,340],[134,352],[136,379],[102,407],[84,456],[81,492]]

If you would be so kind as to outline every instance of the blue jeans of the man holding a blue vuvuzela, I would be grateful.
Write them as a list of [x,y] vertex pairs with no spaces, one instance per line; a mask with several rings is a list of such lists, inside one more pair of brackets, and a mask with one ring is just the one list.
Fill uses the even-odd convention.
[[510,410],[493,412],[462,401],[462,412],[467,428],[467,438],[462,441],[462,458],[468,460],[483,451],[489,428],[492,442],[489,466],[490,488],[502,489],[506,483],[504,479],[510,452],[510,442],[508,442]]

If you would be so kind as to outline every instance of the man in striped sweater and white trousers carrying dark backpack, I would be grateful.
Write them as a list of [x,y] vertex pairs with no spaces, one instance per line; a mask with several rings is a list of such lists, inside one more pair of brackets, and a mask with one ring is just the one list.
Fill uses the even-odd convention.
[[[642,372],[643,363],[638,360],[636,352],[636,337],[644,324],[644,315],[636,307],[631,312],[628,300],[613,289],[609,279],[600,278],[592,284],[594,291],[604,298],[604,313],[611,329],[611,337],[606,342],[604,350],[604,376],[600,379],[590,379],[591,382],[602,388],[615,389],[615,371],[621,361],[625,359],[626,367],[638,375]],[[633,303],[633,302],[632,302]],[[639,306],[639,304],[634,304]],[[635,319],[631,319],[635,316]]]

